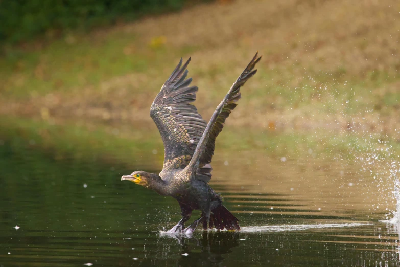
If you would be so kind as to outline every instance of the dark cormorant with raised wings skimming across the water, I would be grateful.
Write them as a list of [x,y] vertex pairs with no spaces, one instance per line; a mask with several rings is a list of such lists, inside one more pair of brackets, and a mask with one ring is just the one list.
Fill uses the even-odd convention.
[[[211,160],[215,141],[224,127],[225,120],[242,97],[240,88],[257,70],[254,66],[261,59],[258,52],[228,93],[218,105],[208,124],[192,103],[196,100],[198,87],[187,78],[187,66],[180,59],[175,70],[155,97],[150,117],[156,124],[164,145],[164,162],[159,174],[134,171],[123,175],[121,180],[152,189],[160,195],[175,198],[181,209],[181,220],[167,233],[192,235],[198,225],[203,229],[240,231],[239,219],[222,205],[222,197],[209,185]],[[185,228],[193,210],[201,216]]]

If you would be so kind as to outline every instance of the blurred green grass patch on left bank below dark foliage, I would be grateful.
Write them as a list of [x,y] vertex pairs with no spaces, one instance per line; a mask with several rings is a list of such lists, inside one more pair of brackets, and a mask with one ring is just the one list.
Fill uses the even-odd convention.
[[124,55],[124,46],[134,41],[133,36],[129,39],[123,36],[109,38],[98,42],[82,40],[79,45],[60,40],[45,51],[10,53],[0,60],[3,70],[0,79],[6,81],[3,91],[9,96],[24,98],[27,91],[43,95],[96,85],[117,75],[147,70],[148,59],[145,57],[138,53]]

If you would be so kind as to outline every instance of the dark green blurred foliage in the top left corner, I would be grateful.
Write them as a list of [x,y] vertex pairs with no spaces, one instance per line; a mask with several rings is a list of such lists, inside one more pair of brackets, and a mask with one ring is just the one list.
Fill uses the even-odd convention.
[[27,40],[51,30],[87,30],[144,14],[178,10],[184,0],[0,0],[0,42]]

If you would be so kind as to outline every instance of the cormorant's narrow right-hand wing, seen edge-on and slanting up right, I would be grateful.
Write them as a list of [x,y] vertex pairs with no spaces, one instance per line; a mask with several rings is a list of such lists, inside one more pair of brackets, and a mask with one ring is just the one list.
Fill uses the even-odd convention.
[[[218,105],[213,116],[211,116],[203,135],[201,136],[189,165],[185,168],[187,171],[193,173],[193,171],[199,166],[209,164],[211,162],[214,154],[215,139],[221,132],[226,118],[237,106],[235,102],[241,98],[240,87],[242,87],[245,82],[257,72],[257,70],[253,69],[255,64],[260,61],[260,59],[261,57],[258,57],[257,52],[247,65],[246,69],[233,83],[232,87],[230,87],[228,94],[226,94],[225,98]],[[190,179],[193,179],[193,177],[196,177],[197,179],[199,178],[197,175],[192,175]],[[202,177],[200,177],[200,179],[202,179]]]

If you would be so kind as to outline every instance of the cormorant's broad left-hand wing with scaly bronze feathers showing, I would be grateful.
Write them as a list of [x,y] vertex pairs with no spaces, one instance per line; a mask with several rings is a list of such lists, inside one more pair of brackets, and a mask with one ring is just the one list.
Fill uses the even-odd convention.
[[150,116],[164,144],[163,169],[183,169],[189,164],[207,123],[191,103],[196,100],[197,86],[187,78],[187,65],[182,59],[150,108]]

